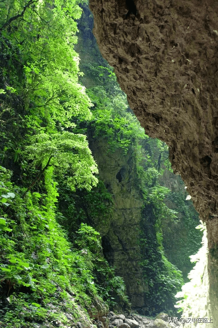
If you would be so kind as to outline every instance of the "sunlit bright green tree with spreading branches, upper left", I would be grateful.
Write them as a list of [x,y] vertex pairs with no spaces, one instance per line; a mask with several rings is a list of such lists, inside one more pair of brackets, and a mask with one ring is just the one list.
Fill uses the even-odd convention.
[[[25,151],[22,153],[19,143],[17,154],[23,155],[23,163],[31,160],[32,167],[41,167],[31,185],[53,165],[54,173],[69,175],[67,182],[72,190],[76,186],[91,189],[97,183],[97,166],[85,136],[74,133],[72,121],[73,117],[92,117],[92,103],[78,83],[82,73],[74,50],[75,19],[80,17],[81,9],[76,1],[58,0],[14,0],[1,5],[5,50],[11,61],[17,59],[17,52],[22,53],[24,63],[22,83],[15,81],[12,74],[7,83],[16,86],[26,113],[22,118],[22,125],[28,129],[23,142]],[[17,52],[12,52],[13,47],[17,47]]]

